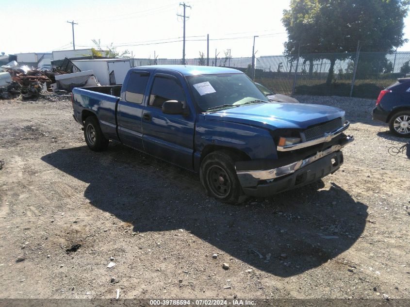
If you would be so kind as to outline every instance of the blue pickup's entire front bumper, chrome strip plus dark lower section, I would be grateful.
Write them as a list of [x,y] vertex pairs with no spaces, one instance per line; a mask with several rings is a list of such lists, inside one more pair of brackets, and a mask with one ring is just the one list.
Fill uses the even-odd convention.
[[354,141],[346,136],[340,144],[332,145],[303,160],[265,170],[237,170],[245,194],[268,196],[309,184],[335,172],[343,163],[340,151]]

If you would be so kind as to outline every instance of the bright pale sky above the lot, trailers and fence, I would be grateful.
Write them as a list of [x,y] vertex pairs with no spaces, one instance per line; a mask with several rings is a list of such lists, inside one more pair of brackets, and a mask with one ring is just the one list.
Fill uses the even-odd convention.
[[[197,58],[252,55],[253,36],[256,56],[283,52],[286,30],[281,23],[289,0],[191,0],[185,1],[185,57]],[[72,49],[74,21],[76,49],[114,44],[128,49],[134,58],[180,59],[182,57],[183,7],[174,0],[0,0],[3,29],[0,51],[51,52]],[[410,38],[410,17],[405,19],[405,37]],[[10,27],[12,25],[12,27]],[[9,30],[6,30],[9,29]],[[167,43],[164,43],[167,42]],[[410,42],[398,50],[410,51]]]

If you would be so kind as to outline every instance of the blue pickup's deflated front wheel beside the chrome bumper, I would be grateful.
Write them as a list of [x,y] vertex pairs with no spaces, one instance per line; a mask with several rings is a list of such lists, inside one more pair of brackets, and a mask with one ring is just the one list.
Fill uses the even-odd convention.
[[199,177],[208,195],[222,203],[239,205],[246,200],[236,176],[239,157],[229,151],[214,151],[201,162]]

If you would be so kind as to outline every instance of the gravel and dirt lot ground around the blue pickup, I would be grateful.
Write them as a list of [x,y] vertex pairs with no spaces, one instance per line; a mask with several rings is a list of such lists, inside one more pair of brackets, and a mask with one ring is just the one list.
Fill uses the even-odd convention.
[[372,100],[298,98],[349,110],[344,165],[242,206],[125,146],[88,150],[69,100],[0,100],[0,298],[410,298],[410,160],[388,153],[406,140]]

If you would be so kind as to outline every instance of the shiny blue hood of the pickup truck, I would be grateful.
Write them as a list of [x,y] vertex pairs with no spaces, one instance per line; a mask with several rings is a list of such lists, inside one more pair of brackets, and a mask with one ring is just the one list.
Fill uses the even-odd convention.
[[205,120],[228,121],[267,129],[306,129],[344,116],[334,107],[302,103],[257,103],[205,113]]

